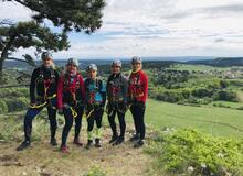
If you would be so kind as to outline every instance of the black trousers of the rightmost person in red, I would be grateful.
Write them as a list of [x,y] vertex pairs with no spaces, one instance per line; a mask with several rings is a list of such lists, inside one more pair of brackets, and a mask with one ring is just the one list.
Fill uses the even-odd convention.
[[130,112],[131,112],[133,118],[134,118],[136,134],[139,134],[140,139],[144,140],[145,139],[145,132],[146,132],[145,106],[134,103],[134,105],[130,106]]

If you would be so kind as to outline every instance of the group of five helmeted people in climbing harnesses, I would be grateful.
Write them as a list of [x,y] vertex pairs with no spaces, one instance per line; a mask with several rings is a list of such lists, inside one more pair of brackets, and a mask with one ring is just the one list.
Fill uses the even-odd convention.
[[[67,136],[75,121],[73,143],[82,146],[80,132],[82,117],[87,120],[87,144],[101,147],[102,119],[104,111],[107,113],[112,129],[109,143],[118,145],[125,140],[125,113],[128,109],[134,118],[135,134],[130,138],[134,147],[144,145],[145,139],[145,108],[148,96],[148,77],[142,72],[140,57],[131,58],[131,73],[128,78],[122,73],[122,62],[112,63],[112,72],[106,82],[97,77],[97,66],[89,64],[86,68],[87,78],[78,72],[78,61],[67,59],[65,70],[59,74],[55,70],[52,55],[42,53],[42,65],[35,68],[30,84],[30,107],[24,117],[24,141],[17,147],[18,151],[31,145],[32,120],[44,108],[47,109],[50,120],[50,144],[57,145],[55,133],[57,129],[56,112],[63,114],[65,124],[62,131],[61,151],[68,152]],[[118,117],[119,133],[115,122]],[[96,124],[96,128],[94,125]],[[95,129],[95,130],[94,130]]]

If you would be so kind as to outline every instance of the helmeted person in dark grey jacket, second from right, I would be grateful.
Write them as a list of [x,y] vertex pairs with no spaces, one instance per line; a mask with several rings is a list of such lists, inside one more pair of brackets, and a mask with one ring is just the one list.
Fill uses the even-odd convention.
[[[127,110],[127,90],[128,82],[126,77],[122,74],[122,62],[115,61],[112,63],[112,74],[108,77],[106,84],[107,90],[107,113],[108,121],[113,132],[113,136],[109,141],[113,145],[118,145],[124,142],[124,135],[126,130],[125,113]],[[115,117],[118,116],[120,134],[118,135],[116,130]]]

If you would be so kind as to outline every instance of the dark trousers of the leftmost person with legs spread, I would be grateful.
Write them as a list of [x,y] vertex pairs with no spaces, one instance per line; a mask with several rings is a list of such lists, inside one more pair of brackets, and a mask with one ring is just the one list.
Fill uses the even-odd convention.
[[[31,141],[32,121],[42,111],[43,108],[29,108],[28,109],[27,114],[24,117],[24,121],[23,121],[25,141]],[[46,108],[47,108],[47,114],[49,114],[49,120],[50,120],[51,139],[54,139],[55,132],[57,129],[56,109],[53,109],[53,107],[51,106],[47,106]]]

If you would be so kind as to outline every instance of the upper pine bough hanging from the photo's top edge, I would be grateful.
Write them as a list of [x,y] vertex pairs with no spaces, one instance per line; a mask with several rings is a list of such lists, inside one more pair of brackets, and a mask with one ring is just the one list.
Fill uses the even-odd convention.
[[63,31],[85,31],[92,33],[102,26],[104,0],[3,0],[18,2],[35,12],[33,19],[42,23],[44,19],[62,26]]

